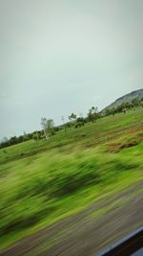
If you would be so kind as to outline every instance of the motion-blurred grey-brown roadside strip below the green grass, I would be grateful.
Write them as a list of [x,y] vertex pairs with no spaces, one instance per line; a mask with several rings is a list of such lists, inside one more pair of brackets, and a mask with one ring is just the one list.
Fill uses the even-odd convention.
[[[105,245],[111,244],[142,224],[143,196],[136,193],[141,186],[139,183],[117,196],[101,199],[86,210],[1,251],[0,255],[93,256]],[[110,206],[118,199],[126,199],[126,202],[100,217],[91,218],[92,213]]]

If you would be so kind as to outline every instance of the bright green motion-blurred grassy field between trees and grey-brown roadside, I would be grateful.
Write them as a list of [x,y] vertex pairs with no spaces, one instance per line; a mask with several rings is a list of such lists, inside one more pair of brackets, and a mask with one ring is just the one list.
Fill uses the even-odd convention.
[[0,246],[142,179],[143,108],[0,151]]

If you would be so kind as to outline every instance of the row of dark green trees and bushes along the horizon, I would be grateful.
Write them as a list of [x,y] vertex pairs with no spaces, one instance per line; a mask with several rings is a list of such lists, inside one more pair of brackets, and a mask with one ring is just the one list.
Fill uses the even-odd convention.
[[47,119],[45,117],[41,118],[41,130],[36,130],[31,133],[26,133],[24,131],[23,135],[20,136],[12,136],[10,139],[7,137],[4,137],[2,142],[0,143],[0,149],[9,147],[11,145],[15,145],[24,141],[28,141],[31,139],[39,140],[46,138],[47,140],[50,140],[50,137],[54,135],[55,132],[59,131],[60,129],[65,129],[65,131],[68,128],[81,128],[84,127],[86,123],[90,122],[96,122],[98,118],[108,116],[108,115],[115,115],[116,113],[121,113],[132,109],[133,107],[137,106],[143,106],[143,98],[140,100],[138,98],[134,98],[131,102],[123,102],[121,105],[117,105],[116,107],[112,108],[106,108],[105,110],[98,111],[98,108],[96,106],[92,106],[92,108],[89,109],[88,114],[86,117],[82,117],[80,115],[77,117],[75,113],[72,112],[72,114],[69,116],[69,122],[65,122],[64,116],[61,117],[62,124],[60,126],[54,126],[54,122],[52,119]]

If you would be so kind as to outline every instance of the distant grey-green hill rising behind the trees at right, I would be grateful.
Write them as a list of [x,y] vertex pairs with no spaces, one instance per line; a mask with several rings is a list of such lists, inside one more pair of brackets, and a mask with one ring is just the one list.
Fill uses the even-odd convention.
[[107,109],[107,108],[112,108],[112,107],[117,107],[118,105],[121,105],[123,102],[132,102],[134,98],[138,98],[141,99],[143,98],[143,89],[139,89],[136,91],[133,91],[131,93],[125,94],[124,96],[118,98],[117,100],[115,100],[111,105],[108,105],[107,107],[105,107],[103,110]]

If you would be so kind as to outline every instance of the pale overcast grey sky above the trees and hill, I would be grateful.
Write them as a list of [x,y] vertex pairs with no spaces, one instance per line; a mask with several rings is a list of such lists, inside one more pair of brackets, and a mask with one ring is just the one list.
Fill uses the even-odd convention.
[[0,0],[0,139],[141,88],[142,0]]

